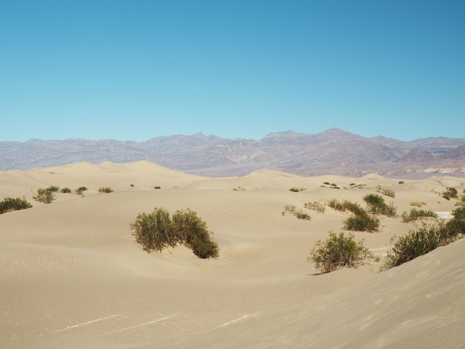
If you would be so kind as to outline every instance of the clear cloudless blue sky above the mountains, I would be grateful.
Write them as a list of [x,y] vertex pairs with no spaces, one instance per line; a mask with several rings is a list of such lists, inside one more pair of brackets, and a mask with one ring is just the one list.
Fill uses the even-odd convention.
[[0,141],[465,137],[465,1],[0,1]]

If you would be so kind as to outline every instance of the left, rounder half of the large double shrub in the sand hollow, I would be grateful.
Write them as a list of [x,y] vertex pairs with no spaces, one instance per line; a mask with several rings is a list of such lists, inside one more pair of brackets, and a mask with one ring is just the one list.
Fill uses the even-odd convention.
[[170,213],[164,208],[155,208],[153,213],[143,212],[136,217],[134,223],[129,224],[133,229],[136,242],[147,252],[159,251],[174,247],[178,237],[174,234]]

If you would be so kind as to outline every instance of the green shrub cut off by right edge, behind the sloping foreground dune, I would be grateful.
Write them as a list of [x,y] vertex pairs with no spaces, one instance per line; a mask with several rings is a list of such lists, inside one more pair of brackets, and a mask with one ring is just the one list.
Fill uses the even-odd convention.
[[380,270],[397,267],[463,237],[465,222],[456,220],[452,224],[449,223],[444,224],[443,221],[434,225],[423,223],[421,228],[410,230],[405,236],[392,236],[390,242],[394,243],[394,246],[388,249],[385,264]]

